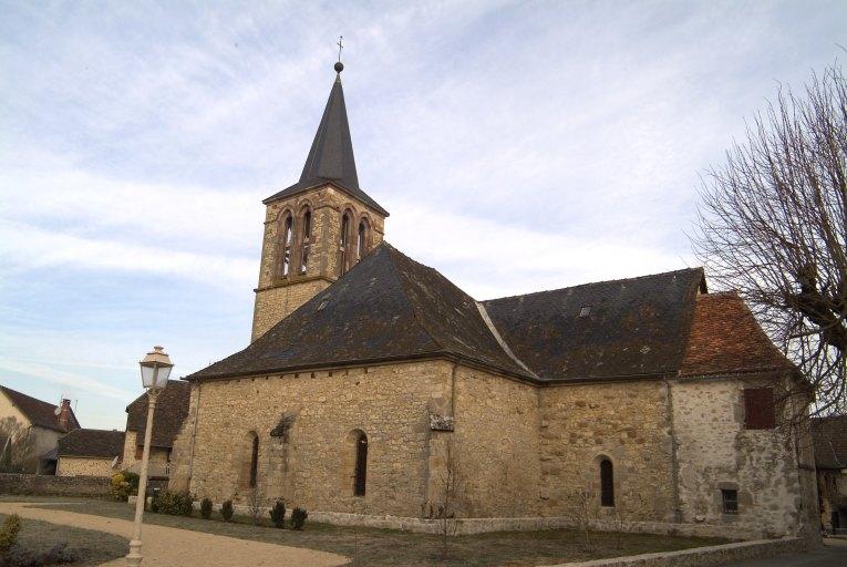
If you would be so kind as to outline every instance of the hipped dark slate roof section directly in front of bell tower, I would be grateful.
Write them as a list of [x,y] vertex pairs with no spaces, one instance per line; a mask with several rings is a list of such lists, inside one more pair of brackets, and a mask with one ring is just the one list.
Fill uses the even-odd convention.
[[473,298],[382,243],[245,350],[187,380],[434,354],[531,379],[500,348]]

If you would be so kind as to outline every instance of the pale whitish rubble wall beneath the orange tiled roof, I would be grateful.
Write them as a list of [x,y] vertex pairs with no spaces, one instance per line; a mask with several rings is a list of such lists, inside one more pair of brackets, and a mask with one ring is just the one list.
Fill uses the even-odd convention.
[[[746,430],[742,390],[750,380],[676,381],[672,386],[681,519],[793,535],[807,525],[792,436]],[[737,514],[724,514],[721,489],[736,489]],[[817,506],[808,498],[807,508]]]

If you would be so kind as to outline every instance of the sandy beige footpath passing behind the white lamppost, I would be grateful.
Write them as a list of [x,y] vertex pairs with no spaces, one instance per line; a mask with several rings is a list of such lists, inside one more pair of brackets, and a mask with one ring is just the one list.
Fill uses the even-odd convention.
[[[18,514],[24,518],[51,524],[94,529],[132,537],[133,523],[126,519],[90,516],[75,512],[30,508],[25,503],[2,502],[0,514]],[[217,536],[174,527],[144,525],[142,534],[145,566],[161,567],[334,567],[348,563],[341,555],[289,547],[235,537]],[[128,551],[128,547],[127,547]],[[124,558],[103,567],[125,566]]]

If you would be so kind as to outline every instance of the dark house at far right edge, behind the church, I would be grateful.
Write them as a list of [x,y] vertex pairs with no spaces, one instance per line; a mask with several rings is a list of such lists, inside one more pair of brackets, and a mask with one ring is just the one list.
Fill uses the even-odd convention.
[[847,415],[814,417],[812,439],[820,523],[829,530],[847,533]]

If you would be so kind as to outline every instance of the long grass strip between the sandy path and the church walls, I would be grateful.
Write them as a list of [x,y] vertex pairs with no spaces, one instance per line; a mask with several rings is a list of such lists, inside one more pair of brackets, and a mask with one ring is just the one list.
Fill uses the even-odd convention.
[[[3,497],[2,499],[12,499],[12,497]],[[39,507],[130,520],[133,518],[134,509],[125,503],[94,499],[30,499],[34,506],[39,506],[37,502],[50,502],[51,504],[42,504]],[[451,537],[447,555],[442,558],[441,538],[437,535],[341,527],[309,520],[307,520],[302,532],[293,532],[270,527],[269,519],[264,520],[262,526],[256,526],[247,517],[236,517],[237,522],[233,523],[219,522],[220,516],[217,512],[213,518],[217,520],[203,519],[197,512],[190,518],[153,513],[144,514],[144,522],[149,524],[320,549],[351,557],[354,565],[374,567],[411,567],[416,565],[528,567],[725,543],[723,539],[701,537],[597,533],[593,534],[596,549],[586,551],[582,549],[580,535],[570,529],[500,532]]]

